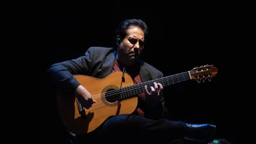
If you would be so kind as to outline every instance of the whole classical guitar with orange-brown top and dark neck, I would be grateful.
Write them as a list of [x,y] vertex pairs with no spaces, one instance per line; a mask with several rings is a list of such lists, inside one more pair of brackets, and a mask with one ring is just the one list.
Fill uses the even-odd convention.
[[[218,68],[212,65],[204,65],[187,72],[140,84],[134,84],[132,78],[125,72],[113,72],[102,79],[75,75],[77,81],[92,94],[93,99],[97,102],[91,108],[86,109],[74,97],[74,93],[58,91],[58,109],[61,120],[68,131],[74,134],[85,134],[97,129],[109,116],[133,113],[138,104],[136,94],[145,92],[145,84],[147,84],[148,91],[150,91],[150,86],[154,82],[161,83],[163,86],[189,79],[200,82],[205,79],[211,80],[217,72]],[[120,79],[122,76],[125,77],[123,82]],[[120,86],[121,83],[122,86]]]

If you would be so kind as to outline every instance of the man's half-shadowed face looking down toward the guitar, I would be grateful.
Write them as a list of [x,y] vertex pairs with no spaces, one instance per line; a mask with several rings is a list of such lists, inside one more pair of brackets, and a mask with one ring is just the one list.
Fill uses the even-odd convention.
[[133,63],[144,48],[144,32],[138,27],[127,29],[127,35],[120,41],[119,58],[125,63]]

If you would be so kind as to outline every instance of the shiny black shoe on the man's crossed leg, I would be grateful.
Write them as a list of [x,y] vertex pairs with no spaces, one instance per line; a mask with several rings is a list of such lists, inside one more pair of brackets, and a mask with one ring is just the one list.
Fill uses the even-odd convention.
[[209,142],[216,134],[216,126],[211,124],[186,124],[187,140]]

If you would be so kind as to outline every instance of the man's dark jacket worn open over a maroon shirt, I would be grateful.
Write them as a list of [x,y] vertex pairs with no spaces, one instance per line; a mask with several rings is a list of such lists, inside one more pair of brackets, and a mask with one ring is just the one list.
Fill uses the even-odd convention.
[[[55,63],[49,67],[47,74],[54,84],[65,86],[76,90],[79,82],[72,77],[76,74],[83,74],[96,78],[103,78],[108,76],[112,70],[115,61],[115,49],[107,47],[90,47],[85,54],[74,60],[63,61]],[[163,73],[152,67],[145,61],[139,60],[141,81],[146,82],[153,79],[163,77]],[[157,104],[151,106],[147,102],[147,110],[145,112],[146,118],[158,120],[159,118],[166,118],[168,116],[168,109],[164,105],[164,98],[161,97]]]

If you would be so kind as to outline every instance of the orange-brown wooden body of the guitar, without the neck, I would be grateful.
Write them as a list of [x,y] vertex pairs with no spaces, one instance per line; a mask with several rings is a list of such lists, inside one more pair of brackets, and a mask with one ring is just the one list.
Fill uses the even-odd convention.
[[[116,89],[121,86],[122,72],[114,72],[104,79],[88,76],[74,76],[97,100],[90,109],[79,111],[74,93],[58,91],[58,109],[63,124],[67,130],[75,134],[92,132],[102,125],[110,116],[133,113],[138,104],[138,98],[121,100],[118,102]],[[122,87],[133,85],[131,77],[125,74],[125,83]],[[115,92],[111,92],[115,90]],[[81,109],[80,109],[81,110]]]

